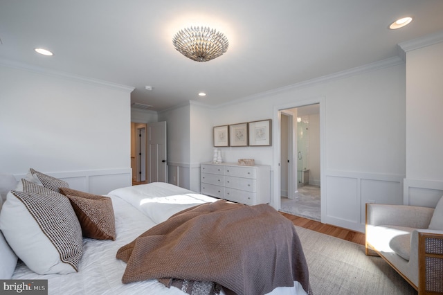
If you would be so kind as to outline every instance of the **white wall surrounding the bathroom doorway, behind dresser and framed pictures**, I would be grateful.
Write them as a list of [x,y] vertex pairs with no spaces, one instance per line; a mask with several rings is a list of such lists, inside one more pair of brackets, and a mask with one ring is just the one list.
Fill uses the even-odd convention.
[[[275,118],[275,110],[323,101],[320,133],[325,181],[322,222],[364,231],[365,202],[401,204],[405,175],[405,66],[398,60],[369,65],[320,82],[294,85],[256,99],[218,107],[212,124]],[[309,103],[306,103],[309,102]],[[320,111],[320,116],[322,111]],[[273,120],[273,124],[278,121]],[[275,130],[278,130],[278,127]],[[226,147],[226,161],[253,158],[273,167],[273,206],[278,207],[278,159],[272,147]],[[209,139],[208,139],[209,140]],[[280,147],[278,146],[278,150]]]

